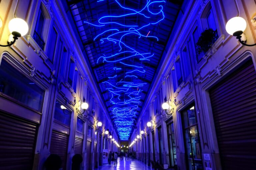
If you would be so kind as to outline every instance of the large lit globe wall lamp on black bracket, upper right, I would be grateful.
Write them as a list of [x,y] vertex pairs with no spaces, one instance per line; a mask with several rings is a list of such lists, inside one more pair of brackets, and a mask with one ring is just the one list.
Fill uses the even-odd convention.
[[[254,20],[252,20],[252,22],[253,21]],[[246,45],[246,46],[256,45],[256,43],[255,44],[246,44],[245,43],[246,38],[245,38],[245,40],[242,40],[242,34],[245,29],[246,29],[246,21],[242,17],[231,18],[226,24],[227,33],[232,36],[235,36],[241,44]]]

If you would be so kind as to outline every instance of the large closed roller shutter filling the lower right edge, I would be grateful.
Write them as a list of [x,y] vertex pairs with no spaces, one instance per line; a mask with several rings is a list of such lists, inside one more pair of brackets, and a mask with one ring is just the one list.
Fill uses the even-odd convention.
[[252,60],[210,91],[223,170],[256,167],[256,72]]

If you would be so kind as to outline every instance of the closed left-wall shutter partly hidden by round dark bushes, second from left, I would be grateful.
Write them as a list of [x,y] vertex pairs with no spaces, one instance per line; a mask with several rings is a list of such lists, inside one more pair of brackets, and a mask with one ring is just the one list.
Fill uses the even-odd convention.
[[63,170],[66,169],[67,164],[67,150],[68,150],[68,135],[58,131],[52,131],[51,154],[57,154],[61,157]]

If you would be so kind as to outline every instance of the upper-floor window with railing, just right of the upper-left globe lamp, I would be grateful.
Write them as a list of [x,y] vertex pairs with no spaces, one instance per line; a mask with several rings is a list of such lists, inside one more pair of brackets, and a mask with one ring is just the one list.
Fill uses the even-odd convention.
[[45,23],[45,16],[40,8],[37,15],[36,27],[35,27],[33,38],[42,49],[44,49],[44,45],[45,45],[45,42],[43,40],[44,23]]

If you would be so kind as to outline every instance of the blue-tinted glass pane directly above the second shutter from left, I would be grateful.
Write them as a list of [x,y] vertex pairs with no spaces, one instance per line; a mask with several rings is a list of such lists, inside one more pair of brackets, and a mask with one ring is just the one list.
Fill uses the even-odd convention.
[[60,106],[61,104],[57,101],[55,104],[54,119],[69,127],[72,112],[67,109],[63,112]]

